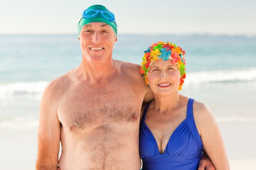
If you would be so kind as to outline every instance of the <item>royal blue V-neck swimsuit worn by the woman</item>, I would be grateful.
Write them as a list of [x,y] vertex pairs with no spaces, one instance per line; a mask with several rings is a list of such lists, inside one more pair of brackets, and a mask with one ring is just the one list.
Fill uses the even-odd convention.
[[203,153],[203,144],[195,126],[193,101],[189,99],[186,119],[174,130],[163,154],[145,123],[148,103],[140,124],[139,154],[142,170],[197,170]]

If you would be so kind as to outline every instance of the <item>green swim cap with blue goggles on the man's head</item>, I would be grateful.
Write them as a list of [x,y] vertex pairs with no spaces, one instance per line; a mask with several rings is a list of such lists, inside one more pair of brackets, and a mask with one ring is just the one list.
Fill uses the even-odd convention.
[[[84,17],[85,11],[88,11],[88,9],[92,9],[89,13],[89,17]],[[111,13],[106,7],[103,5],[92,5],[88,9],[86,9],[82,15],[81,19],[78,22],[77,25],[77,31],[78,31],[78,37],[80,35],[80,32],[82,30],[82,27],[85,24],[91,23],[91,22],[104,22],[106,24],[109,24],[112,29],[115,32],[115,35],[117,37],[117,22],[115,20],[115,15]],[[96,12],[94,11],[96,10]],[[92,15],[91,15],[92,14]]]

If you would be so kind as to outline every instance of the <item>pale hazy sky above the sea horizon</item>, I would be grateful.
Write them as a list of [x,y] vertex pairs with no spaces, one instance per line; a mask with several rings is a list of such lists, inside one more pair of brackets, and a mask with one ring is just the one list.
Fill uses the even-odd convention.
[[76,34],[93,4],[115,14],[118,34],[256,35],[255,0],[1,0],[0,34]]

